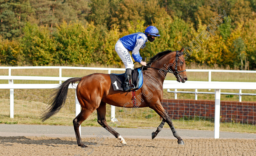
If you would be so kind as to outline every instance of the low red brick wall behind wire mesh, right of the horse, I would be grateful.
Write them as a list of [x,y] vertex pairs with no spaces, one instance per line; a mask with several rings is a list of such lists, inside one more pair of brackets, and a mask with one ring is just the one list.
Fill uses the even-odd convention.
[[[214,100],[163,99],[163,107],[172,119],[214,121]],[[221,122],[256,124],[256,102],[220,102]]]

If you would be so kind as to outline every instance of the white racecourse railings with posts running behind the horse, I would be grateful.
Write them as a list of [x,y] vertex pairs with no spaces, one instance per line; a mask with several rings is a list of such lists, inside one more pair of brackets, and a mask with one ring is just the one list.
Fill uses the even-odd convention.
[[[11,69],[59,69],[59,77],[40,77],[40,76],[11,76]],[[1,84],[0,89],[10,89],[10,118],[14,117],[14,94],[13,89],[52,89],[59,84],[13,84],[13,80],[48,80],[48,81],[66,81],[69,77],[62,77],[62,69],[90,69],[90,70],[111,70],[125,71],[124,68],[91,68],[91,67],[0,67],[0,69],[9,69],[9,76],[0,76],[0,80],[9,80],[9,84]],[[209,81],[187,81],[179,83],[177,81],[165,80],[163,89],[215,89],[215,120],[214,120],[214,138],[219,138],[220,126],[220,90],[221,89],[256,89],[256,82],[218,82],[211,81],[211,72],[247,72],[256,73],[256,71],[233,71],[233,70],[195,70],[187,69],[187,72],[209,72]],[[69,85],[69,88],[76,88]],[[76,115],[80,113],[80,105],[76,98]],[[115,107],[111,107],[111,118],[115,118]],[[80,129],[80,128],[79,128]],[[81,129],[80,129],[81,134]]]

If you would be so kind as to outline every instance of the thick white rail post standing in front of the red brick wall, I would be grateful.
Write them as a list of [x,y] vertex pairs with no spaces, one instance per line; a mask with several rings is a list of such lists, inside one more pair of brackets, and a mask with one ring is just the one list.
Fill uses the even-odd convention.
[[219,138],[220,125],[220,89],[215,89],[214,138]]

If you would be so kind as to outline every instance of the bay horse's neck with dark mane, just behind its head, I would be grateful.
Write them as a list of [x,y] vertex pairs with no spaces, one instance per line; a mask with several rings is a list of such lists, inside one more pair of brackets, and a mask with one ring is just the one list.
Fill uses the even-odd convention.
[[[170,58],[172,58],[172,55],[173,55],[173,53],[169,53],[166,56],[160,58],[159,60],[154,61],[151,64],[151,67],[155,67],[155,68],[159,68],[159,69],[164,68],[167,71],[168,65],[170,62]],[[152,70],[152,71],[150,71],[150,73],[151,73],[151,76],[154,76],[155,78],[158,79],[159,83],[161,83],[161,84],[164,83],[167,72],[160,71],[160,70]]]

